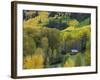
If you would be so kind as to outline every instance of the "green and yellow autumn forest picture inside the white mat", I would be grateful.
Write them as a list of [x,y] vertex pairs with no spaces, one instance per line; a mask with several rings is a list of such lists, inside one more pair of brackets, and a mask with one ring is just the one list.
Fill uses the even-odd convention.
[[91,65],[89,13],[23,10],[23,69]]

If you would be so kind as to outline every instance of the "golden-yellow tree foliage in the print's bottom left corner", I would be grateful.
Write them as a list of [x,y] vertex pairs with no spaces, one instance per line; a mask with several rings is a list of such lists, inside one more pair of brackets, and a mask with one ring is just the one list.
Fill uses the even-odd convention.
[[31,56],[24,57],[24,69],[39,69],[44,67],[44,56],[41,48],[37,48]]

